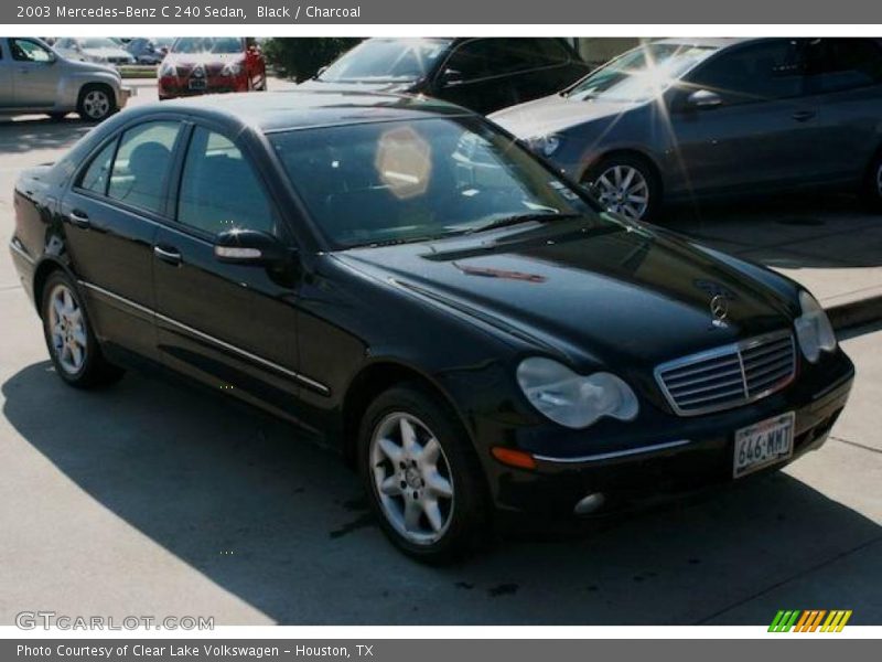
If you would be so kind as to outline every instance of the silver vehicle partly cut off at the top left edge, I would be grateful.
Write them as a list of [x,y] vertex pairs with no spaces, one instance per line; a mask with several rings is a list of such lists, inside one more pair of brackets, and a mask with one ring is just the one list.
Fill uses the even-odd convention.
[[63,57],[33,36],[0,39],[0,113],[76,111],[101,121],[126,105],[131,90],[106,65]]

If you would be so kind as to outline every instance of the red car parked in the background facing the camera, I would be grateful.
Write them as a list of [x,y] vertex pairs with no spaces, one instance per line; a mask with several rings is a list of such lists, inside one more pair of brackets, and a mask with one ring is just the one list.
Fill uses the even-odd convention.
[[182,36],[159,67],[159,98],[267,88],[267,63],[251,36]]

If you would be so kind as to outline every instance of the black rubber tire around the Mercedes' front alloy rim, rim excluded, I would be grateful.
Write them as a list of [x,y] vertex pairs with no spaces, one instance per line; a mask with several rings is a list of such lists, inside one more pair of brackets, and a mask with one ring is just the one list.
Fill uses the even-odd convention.
[[[476,549],[490,528],[486,483],[471,439],[445,404],[415,385],[390,388],[368,406],[358,433],[358,470],[384,533],[409,556],[424,563],[443,564]],[[430,545],[417,545],[402,537],[383,513],[370,470],[370,439],[377,425],[389,414],[405,412],[419,418],[435,436],[447,457],[453,481],[453,514],[444,535]]]

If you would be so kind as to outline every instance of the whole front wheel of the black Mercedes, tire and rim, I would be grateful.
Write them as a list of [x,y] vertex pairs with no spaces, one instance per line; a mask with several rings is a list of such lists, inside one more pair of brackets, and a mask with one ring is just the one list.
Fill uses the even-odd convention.
[[[405,554],[434,565],[475,552],[491,528],[486,483],[456,421],[440,398],[402,384],[368,406],[358,435],[359,473],[380,527]],[[416,446],[405,444],[406,426]]]

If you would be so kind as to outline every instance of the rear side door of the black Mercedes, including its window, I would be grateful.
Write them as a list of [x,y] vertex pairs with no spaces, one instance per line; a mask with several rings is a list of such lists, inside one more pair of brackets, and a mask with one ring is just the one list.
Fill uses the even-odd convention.
[[67,250],[107,344],[155,357],[153,237],[168,214],[180,119],[133,125],[100,145],[61,204]]

